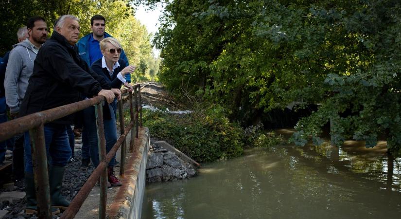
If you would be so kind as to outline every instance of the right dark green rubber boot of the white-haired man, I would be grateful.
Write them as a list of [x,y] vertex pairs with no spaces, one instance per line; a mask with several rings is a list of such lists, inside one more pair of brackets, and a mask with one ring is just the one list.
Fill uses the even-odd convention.
[[49,166],[49,184],[50,184],[50,198],[52,200],[52,207],[66,210],[70,205],[70,201],[61,194],[61,186],[63,184],[63,176],[65,166]]

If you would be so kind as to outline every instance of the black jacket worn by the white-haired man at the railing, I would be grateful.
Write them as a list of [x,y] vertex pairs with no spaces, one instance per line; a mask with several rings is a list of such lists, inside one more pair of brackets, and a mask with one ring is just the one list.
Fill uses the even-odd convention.
[[[54,31],[36,56],[19,113],[24,116],[74,103],[84,96],[95,96],[102,89],[111,89],[105,78],[93,72],[78,55],[76,47]],[[73,115],[52,123],[72,124]]]

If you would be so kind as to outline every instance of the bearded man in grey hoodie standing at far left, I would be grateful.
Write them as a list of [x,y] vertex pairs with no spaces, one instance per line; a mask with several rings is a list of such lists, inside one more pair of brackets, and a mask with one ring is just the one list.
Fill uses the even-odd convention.
[[[14,117],[18,117],[19,106],[25,96],[28,80],[34,69],[36,54],[46,41],[48,35],[46,21],[41,17],[29,18],[27,29],[29,37],[13,45],[14,49],[10,52],[5,71],[5,98],[10,108],[10,113]],[[13,150],[13,176],[15,180],[19,180],[24,177],[23,134],[16,135],[15,141]]]

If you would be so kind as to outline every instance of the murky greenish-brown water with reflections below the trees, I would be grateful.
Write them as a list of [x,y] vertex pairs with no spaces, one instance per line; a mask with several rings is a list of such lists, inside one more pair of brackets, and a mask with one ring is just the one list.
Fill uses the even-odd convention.
[[401,159],[366,149],[275,146],[147,184],[144,219],[400,218]]

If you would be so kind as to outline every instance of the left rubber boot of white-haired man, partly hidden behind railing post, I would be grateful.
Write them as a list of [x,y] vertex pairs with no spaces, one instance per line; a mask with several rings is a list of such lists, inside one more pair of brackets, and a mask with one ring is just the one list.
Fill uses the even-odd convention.
[[[25,214],[33,215],[37,214],[37,202],[35,196],[35,180],[33,173],[25,172],[25,194],[26,194],[26,209]],[[51,208],[52,214],[60,213],[58,208]]]

